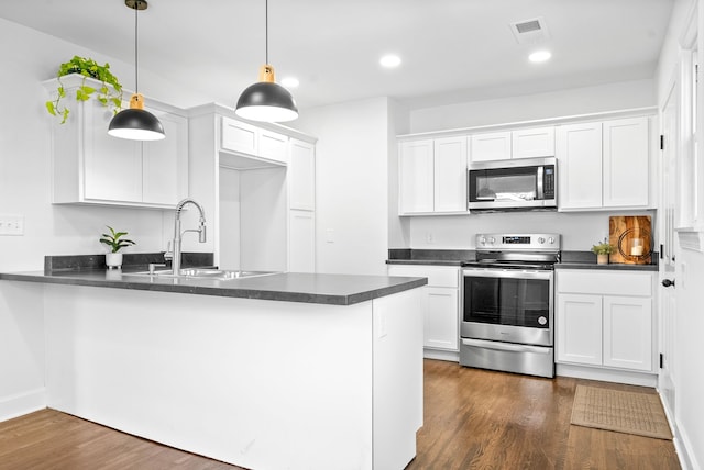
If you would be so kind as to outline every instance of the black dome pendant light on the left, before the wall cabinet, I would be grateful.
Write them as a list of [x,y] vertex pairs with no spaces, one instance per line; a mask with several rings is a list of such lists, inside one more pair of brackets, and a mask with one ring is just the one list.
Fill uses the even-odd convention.
[[131,141],[160,141],[166,135],[160,120],[144,110],[144,96],[139,92],[138,55],[138,11],[146,10],[146,0],[124,0],[128,8],[134,10],[134,94],[130,98],[130,108],[120,111],[110,121],[108,134]]

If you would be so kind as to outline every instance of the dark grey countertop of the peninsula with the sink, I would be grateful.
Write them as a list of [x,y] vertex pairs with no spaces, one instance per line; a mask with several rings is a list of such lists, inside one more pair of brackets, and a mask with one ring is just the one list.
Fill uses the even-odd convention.
[[121,269],[2,272],[0,280],[352,305],[428,283],[426,278],[282,272],[230,280],[134,276]]

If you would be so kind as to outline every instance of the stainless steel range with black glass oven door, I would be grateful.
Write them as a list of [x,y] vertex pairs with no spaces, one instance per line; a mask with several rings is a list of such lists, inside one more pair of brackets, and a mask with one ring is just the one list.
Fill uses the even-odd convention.
[[463,264],[460,363],[554,377],[559,234],[477,234]]

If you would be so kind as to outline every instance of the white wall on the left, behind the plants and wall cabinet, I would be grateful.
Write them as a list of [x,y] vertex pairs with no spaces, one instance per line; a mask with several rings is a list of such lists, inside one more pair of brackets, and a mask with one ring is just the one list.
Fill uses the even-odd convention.
[[[98,238],[108,224],[128,231],[138,243],[125,253],[165,249],[163,240],[173,230],[170,213],[51,204],[52,121],[44,108],[48,94],[41,82],[55,77],[59,64],[74,55],[110,63],[128,88],[133,86],[133,66],[1,19],[0,44],[0,88],[4,93],[0,107],[0,214],[24,216],[23,236],[0,236],[0,271],[43,269],[45,255],[103,253]],[[148,72],[141,72],[140,79],[147,97],[177,105],[198,99],[193,90]],[[0,284],[1,421],[41,403],[44,326],[41,302],[19,300],[29,295],[18,292],[31,287]]]

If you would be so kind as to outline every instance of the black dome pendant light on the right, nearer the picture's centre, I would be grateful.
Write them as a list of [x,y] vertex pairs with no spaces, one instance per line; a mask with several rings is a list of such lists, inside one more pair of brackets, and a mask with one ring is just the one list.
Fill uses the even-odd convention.
[[266,8],[266,64],[260,68],[260,81],[248,87],[235,109],[237,115],[251,121],[284,122],[298,118],[298,107],[290,92],[276,83],[274,67],[268,64],[268,0]]

